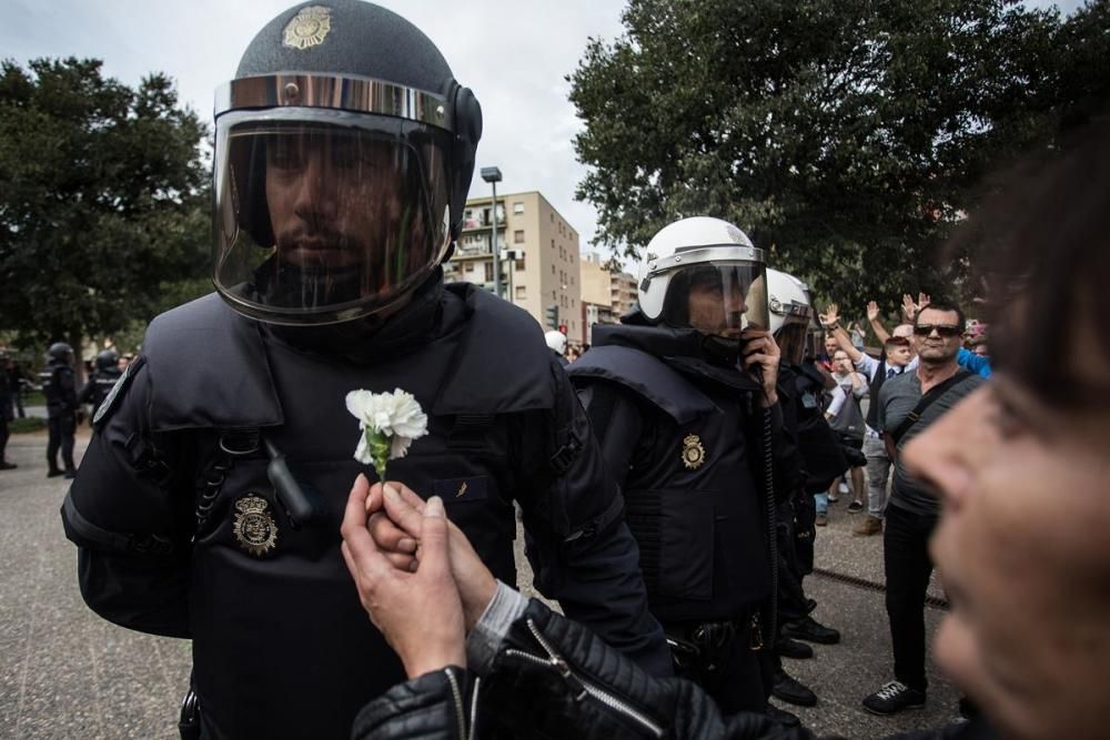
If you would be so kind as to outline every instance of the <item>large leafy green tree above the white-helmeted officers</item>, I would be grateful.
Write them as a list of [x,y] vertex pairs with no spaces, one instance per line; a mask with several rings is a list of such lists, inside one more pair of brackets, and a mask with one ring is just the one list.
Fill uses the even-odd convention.
[[1072,63],[1098,57],[1106,6],[1078,30],[1003,0],[630,0],[568,78],[595,241],[637,256],[710,214],[860,314],[950,292],[966,261],[937,256],[976,183],[1106,89],[1106,57]]

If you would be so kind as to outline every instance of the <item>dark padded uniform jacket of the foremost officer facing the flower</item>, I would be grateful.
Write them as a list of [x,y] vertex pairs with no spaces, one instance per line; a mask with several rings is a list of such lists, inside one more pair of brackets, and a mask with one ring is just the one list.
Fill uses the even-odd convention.
[[[300,332],[243,318],[215,295],[157,318],[63,506],[89,606],[193,639],[208,736],[345,737],[357,709],[403,677],[340,553],[351,484],[360,472],[375,479],[353,459],[345,396],[357,388],[415,395],[430,433],[387,475],[442,496],[498,578],[515,582],[516,500],[541,589],[652,670],[669,669],[619,493],[527,314],[433,281],[347,358],[306,348],[324,333]],[[278,455],[311,503],[304,520],[268,477]]]

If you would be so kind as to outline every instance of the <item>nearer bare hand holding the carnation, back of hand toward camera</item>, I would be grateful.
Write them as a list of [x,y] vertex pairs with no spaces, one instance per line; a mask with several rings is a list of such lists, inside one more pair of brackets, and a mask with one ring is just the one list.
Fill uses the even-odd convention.
[[396,650],[408,678],[447,666],[466,666],[463,605],[451,575],[447,518],[433,498],[421,515],[422,557],[416,572],[398,570],[374,544],[366,527],[370,485],[360,475],[343,516],[343,559],[359,599],[385,640]]

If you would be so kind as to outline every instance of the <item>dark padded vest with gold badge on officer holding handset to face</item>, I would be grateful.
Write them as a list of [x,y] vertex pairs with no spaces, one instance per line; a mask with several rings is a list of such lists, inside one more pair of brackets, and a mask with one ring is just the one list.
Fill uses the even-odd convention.
[[662,622],[737,618],[771,586],[748,428],[757,386],[698,359],[605,344],[616,333],[668,330],[606,330],[568,372],[578,387],[615,384],[655,412],[624,488],[652,614]]

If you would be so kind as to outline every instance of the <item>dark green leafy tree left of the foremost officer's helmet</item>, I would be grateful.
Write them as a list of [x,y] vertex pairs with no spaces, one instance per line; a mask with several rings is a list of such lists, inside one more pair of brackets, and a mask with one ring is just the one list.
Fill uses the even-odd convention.
[[148,321],[204,275],[205,126],[172,81],[97,60],[0,65],[0,328],[43,347]]

